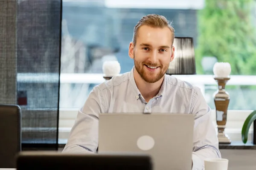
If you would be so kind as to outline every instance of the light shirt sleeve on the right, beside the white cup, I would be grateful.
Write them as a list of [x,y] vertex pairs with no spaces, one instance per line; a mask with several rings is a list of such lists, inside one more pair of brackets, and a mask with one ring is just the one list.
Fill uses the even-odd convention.
[[191,113],[195,115],[192,170],[204,170],[204,159],[221,158],[218,137],[212,123],[211,108],[199,88],[192,97]]

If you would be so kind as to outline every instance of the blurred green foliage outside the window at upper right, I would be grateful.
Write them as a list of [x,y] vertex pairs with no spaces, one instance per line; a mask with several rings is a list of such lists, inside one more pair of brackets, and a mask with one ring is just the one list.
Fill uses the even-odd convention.
[[229,62],[232,75],[256,74],[255,0],[205,0],[198,11],[197,73],[201,59],[214,56]]

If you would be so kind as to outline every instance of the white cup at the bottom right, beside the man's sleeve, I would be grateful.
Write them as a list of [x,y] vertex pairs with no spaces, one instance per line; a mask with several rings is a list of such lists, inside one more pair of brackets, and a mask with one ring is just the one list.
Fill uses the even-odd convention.
[[227,170],[228,159],[205,159],[204,168],[205,170]]

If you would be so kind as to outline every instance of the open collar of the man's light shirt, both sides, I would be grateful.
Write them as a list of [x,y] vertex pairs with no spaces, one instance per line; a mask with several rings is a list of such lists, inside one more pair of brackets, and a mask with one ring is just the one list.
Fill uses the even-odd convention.
[[[136,85],[136,82],[135,82],[135,79],[134,79],[134,69],[135,67],[133,66],[133,68],[131,69],[131,72],[130,72],[130,78],[129,78],[129,81],[131,82],[131,85],[133,86],[134,90],[135,90],[135,93],[136,93],[136,99],[139,99],[141,96],[141,93]],[[155,99],[159,98],[159,97],[162,97],[163,96],[163,91],[164,89],[166,88],[166,74],[164,75],[163,77],[163,84],[158,92],[158,94],[156,96],[154,96]]]

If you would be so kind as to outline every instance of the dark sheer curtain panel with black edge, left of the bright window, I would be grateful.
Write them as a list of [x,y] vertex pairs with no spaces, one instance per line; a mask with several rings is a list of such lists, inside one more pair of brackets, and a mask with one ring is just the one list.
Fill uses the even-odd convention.
[[17,0],[22,144],[58,148],[61,0]]

